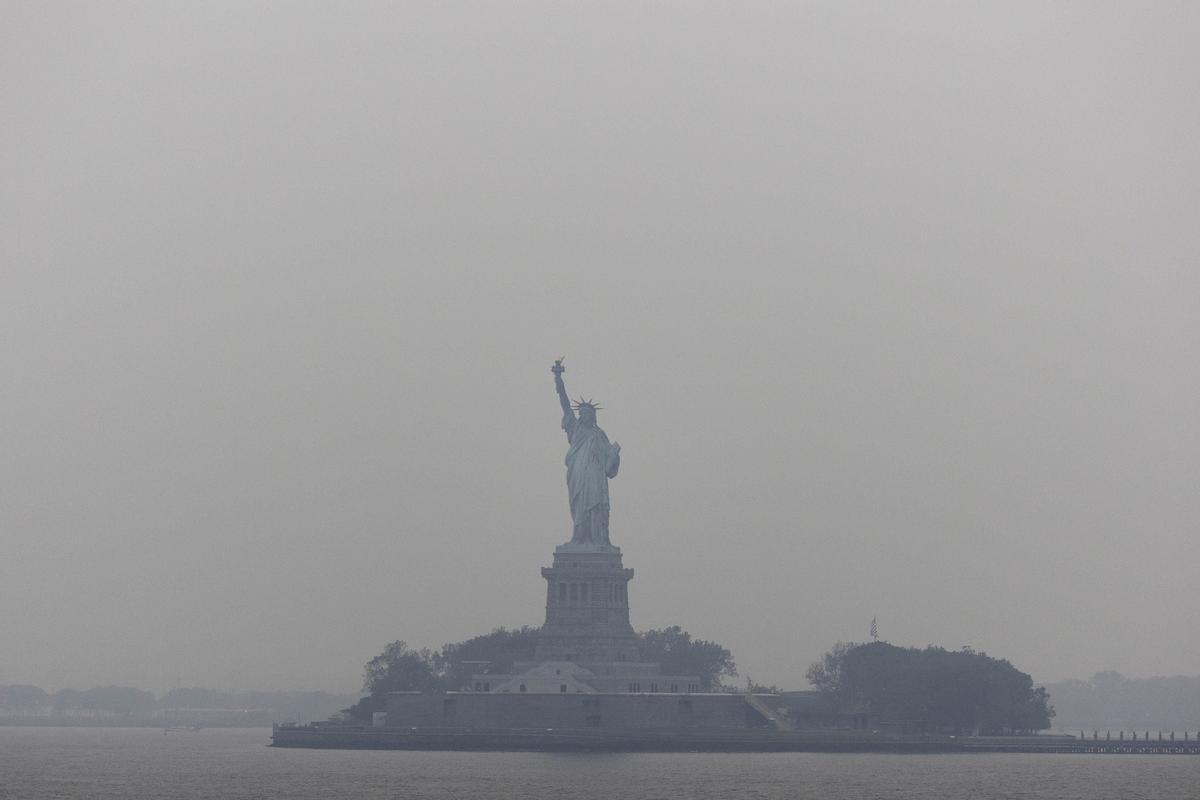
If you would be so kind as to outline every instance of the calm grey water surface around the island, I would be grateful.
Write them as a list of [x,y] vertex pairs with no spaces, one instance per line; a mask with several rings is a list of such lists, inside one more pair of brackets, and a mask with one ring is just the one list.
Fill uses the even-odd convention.
[[1200,798],[1200,758],[274,750],[270,730],[0,728],[0,798]]

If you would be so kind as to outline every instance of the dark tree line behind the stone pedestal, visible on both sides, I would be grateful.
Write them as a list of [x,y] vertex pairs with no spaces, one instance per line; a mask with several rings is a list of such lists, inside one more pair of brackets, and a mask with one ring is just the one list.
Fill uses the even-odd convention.
[[[392,642],[364,667],[362,691],[367,693],[344,709],[355,720],[367,721],[384,710],[388,692],[437,692],[466,688],[470,676],[486,670],[511,673],[518,661],[533,661],[538,628],[497,628],[466,642],[443,645],[440,650],[414,650],[403,640]],[[638,650],[644,661],[661,664],[671,675],[698,675],[701,686],[712,690],[722,678],[738,674],[733,655],[704,639],[694,639],[679,626],[638,633]]]

